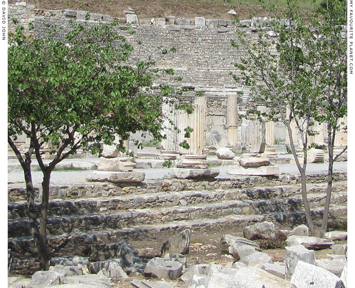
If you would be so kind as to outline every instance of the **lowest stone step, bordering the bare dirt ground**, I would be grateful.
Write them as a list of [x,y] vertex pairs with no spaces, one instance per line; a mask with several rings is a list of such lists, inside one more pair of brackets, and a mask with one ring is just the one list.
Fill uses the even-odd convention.
[[[312,218],[319,221],[322,218],[322,209],[311,210]],[[346,219],[347,206],[340,205],[330,208],[330,219],[332,222],[335,217]],[[260,215],[225,215],[224,217],[202,220],[172,221],[169,223],[147,224],[132,226],[121,229],[102,229],[99,231],[70,232],[58,236],[48,236],[48,250],[50,254],[61,255],[87,255],[91,244],[94,243],[113,243],[119,240],[144,240],[147,238],[157,239],[164,237],[168,239],[171,235],[190,228],[193,231],[206,228],[228,227],[231,230],[243,228],[255,222],[279,221],[281,224],[304,224],[305,215],[302,211],[296,212],[272,212]],[[8,248],[15,253],[25,255],[26,253],[35,254],[36,248],[31,237],[8,238]]]

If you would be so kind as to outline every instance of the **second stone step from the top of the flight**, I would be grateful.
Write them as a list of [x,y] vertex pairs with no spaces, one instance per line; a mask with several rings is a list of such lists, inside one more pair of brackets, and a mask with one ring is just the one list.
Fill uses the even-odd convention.
[[[308,193],[325,193],[326,184],[310,184]],[[332,191],[347,188],[346,182],[334,183]],[[255,200],[279,199],[300,194],[299,186],[258,187],[254,189],[203,190],[181,192],[159,192],[145,194],[129,194],[118,197],[98,197],[78,200],[54,200],[49,202],[48,215],[90,214],[101,212],[117,212],[127,209],[144,209],[152,207],[186,206],[211,203],[223,200]],[[36,202],[35,210],[39,217],[40,202]],[[27,203],[9,203],[8,219],[27,218]]]

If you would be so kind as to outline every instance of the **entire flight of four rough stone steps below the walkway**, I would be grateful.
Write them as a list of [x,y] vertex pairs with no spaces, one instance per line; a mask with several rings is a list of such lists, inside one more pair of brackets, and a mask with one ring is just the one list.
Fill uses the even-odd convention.
[[[315,220],[322,217],[325,174],[308,175],[308,199]],[[330,218],[347,215],[347,173],[334,174]],[[92,243],[167,237],[185,228],[242,228],[252,222],[304,223],[300,179],[279,177],[171,179],[141,184],[89,183],[51,187],[47,235],[52,253],[80,255]],[[37,194],[40,199],[41,193]],[[8,246],[32,254],[27,204],[9,191]],[[40,213],[40,202],[36,201]]]

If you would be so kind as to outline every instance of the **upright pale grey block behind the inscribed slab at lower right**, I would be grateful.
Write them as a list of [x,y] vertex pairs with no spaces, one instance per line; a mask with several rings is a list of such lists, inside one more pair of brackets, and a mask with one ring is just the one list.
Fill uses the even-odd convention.
[[308,250],[303,245],[285,247],[285,273],[286,279],[291,279],[298,261],[304,261],[315,265],[315,254],[313,250]]

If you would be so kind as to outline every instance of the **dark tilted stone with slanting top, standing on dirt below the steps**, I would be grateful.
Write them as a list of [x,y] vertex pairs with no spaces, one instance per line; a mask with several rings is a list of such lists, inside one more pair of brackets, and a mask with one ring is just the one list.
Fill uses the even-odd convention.
[[183,254],[186,255],[190,250],[190,229],[181,231],[178,235],[174,235],[162,245],[161,254],[164,257],[166,254]]

